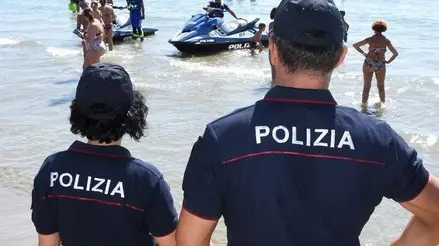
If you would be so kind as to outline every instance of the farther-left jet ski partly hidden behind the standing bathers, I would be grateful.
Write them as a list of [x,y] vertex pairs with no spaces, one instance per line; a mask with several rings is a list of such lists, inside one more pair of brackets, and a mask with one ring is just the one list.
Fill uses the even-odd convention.
[[[150,36],[154,35],[158,29],[143,27],[143,35]],[[113,21],[113,41],[122,42],[123,40],[129,38],[133,35],[133,29],[131,28],[131,21],[129,14],[121,13],[117,14],[116,20]]]

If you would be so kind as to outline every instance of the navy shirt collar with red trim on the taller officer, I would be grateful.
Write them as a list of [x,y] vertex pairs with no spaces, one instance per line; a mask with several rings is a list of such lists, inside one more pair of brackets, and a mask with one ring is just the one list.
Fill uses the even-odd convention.
[[337,102],[329,90],[299,89],[285,86],[275,86],[271,88],[261,101],[329,106],[337,105]]

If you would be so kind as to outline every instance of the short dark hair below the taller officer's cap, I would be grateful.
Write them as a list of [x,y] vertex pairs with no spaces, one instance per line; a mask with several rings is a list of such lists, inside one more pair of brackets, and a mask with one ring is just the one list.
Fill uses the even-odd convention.
[[271,40],[276,45],[279,59],[288,73],[308,71],[327,74],[337,66],[343,51],[343,43],[330,47],[307,46],[284,40],[274,33]]

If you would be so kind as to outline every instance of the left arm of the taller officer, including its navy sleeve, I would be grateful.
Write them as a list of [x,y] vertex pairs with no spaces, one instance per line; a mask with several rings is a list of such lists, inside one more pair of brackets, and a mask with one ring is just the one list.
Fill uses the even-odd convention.
[[183,178],[183,208],[177,226],[177,245],[208,246],[223,213],[217,140],[206,128],[192,148]]

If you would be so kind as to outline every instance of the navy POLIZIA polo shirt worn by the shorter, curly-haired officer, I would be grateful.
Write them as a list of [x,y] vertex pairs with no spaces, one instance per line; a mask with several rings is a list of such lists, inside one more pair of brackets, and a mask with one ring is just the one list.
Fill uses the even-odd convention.
[[156,245],[178,215],[170,188],[153,165],[122,146],[75,141],[49,156],[34,180],[32,221],[59,232],[64,246]]

